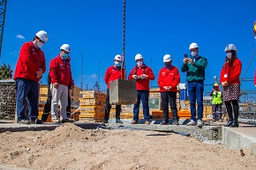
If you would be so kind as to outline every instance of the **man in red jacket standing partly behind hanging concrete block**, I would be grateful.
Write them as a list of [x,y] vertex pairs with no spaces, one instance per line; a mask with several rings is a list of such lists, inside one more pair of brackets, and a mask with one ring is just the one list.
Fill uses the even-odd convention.
[[[107,89],[107,97],[106,97],[106,107],[105,107],[105,116],[104,116],[104,123],[109,122],[109,112],[111,109],[111,105],[109,103],[109,84],[111,81],[116,79],[124,79],[125,77],[125,70],[122,68],[122,56],[116,55],[114,57],[114,65],[111,65],[105,73],[104,80],[105,83],[108,85]],[[123,123],[120,120],[120,113],[121,113],[121,105],[116,105],[116,123]]]

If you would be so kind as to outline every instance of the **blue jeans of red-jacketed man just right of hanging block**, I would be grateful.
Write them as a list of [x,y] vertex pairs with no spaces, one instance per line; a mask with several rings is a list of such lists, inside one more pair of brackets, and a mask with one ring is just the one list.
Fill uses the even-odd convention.
[[145,121],[149,121],[149,107],[148,107],[149,91],[138,90],[137,91],[137,103],[133,105],[133,121],[139,120],[139,104],[140,100],[143,106],[143,116]]

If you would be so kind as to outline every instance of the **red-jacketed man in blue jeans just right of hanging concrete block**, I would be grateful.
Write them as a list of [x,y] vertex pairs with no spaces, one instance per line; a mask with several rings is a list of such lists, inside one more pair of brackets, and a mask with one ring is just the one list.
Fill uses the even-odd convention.
[[151,68],[144,63],[142,55],[135,55],[135,62],[137,64],[128,77],[128,79],[136,81],[137,90],[137,103],[133,105],[133,121],[131,123],[137,124],[139,121],[139,104],[141,100],[145,124],[150,124],[148,107],[149,80],[154,80],[154,73]]

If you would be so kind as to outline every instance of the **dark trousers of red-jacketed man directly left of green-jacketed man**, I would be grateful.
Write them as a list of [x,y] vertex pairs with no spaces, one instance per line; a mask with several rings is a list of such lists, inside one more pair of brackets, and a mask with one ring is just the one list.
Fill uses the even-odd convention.
[[169,122],[169,107],[174,121],[178,121],[177,117],[177,92],[161,92],[162,115],[163,120]]

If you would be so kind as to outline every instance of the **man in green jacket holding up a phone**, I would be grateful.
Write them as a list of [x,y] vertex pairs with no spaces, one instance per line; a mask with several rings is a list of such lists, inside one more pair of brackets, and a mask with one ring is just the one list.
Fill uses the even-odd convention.
[[[187,126],[203,125],[203,93],[205,70],[207,68],[207,58],[199,55],[200,47],[197,43],[192,42],[189,46],[191,51],[190,57],[184,55],[181,71],[186,72],[186,81],[188,87],[188,95],[191,107],[191,121]],[[198,113],[196,113],[196,103],[198,104]],[[198,115],[198,119],[197,116]]]

